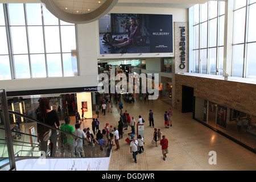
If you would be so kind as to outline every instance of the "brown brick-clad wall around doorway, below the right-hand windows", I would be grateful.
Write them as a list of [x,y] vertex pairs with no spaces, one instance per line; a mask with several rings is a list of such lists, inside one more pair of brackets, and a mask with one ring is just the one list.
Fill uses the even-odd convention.
[[256,115],[256,85],[175,74],[175,108],[181,111],[182,85],[194,88],[194,96]]

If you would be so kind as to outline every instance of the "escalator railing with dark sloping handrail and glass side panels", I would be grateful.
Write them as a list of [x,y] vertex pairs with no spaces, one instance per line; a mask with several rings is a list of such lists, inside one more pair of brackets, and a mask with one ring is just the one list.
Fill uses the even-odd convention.
[[[46,158],[49,156],[55,158],[102,158],[110,155],[112,147],[110,146],[110,140],[108,140],[105,147],[98,144],[96,139],[93,140],[94,142],[88,142],[88,140],[84,138],[77,137],[76,135],[72,135],[56,127],[49,126],[27,115],[20,114],[16,111],[6,110],[7,103],[5,104],[3,100],[4,98],[1,94],[0,104],[2,104],[2,107],[0,108],[0,114],[5,117],[2,117],[0,122],[1,124],[4,123],[4,125],[0,125],[0,170],[2,166],[6,166],[6,164],[3,165],[1,162],[6,161],[7,158],[9,158],[10,169],[14,170],[15,159],[22,157],[34,158],[44,155]],[[16,126],[16,123],[10,124],[10,115],[22,118],[23,122],[20,123],[19,126]],[[41,151],[40,148],[42,144],[38,142],[36,131],[38,123],[50,128],[52,133],[56,133],[55,156],[51,154],[51,151],[55,146],[55,141],[53,139],[47,141],[46,154],[43,154],[43,151]],[[17,128],[18,131],[15,130]],[[77,148],[79,148],[77,147],[77,144],[79,143],[77,141],[82,142],[82,149],[84,152],[77,150]]]

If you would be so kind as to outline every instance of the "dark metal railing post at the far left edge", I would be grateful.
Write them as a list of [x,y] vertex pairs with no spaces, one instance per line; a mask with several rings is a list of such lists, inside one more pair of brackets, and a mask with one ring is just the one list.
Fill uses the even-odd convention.
[[0,90],[0,96],[2,100],[2,111],[3,111],[3,123],[5,126],[5,134],[6,134],[6,144],[8,148],[8,155],[10,160],[10,170],[16,170],[15,158],[14,158],[14,150],[13,150],[13,138],[11,135],[11,126],[9,120],[9,111],[7,105],[6,91],[4,89]]

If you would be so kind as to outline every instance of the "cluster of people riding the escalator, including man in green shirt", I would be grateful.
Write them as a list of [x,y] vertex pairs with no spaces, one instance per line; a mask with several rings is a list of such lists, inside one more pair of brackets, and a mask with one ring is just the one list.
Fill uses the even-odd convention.
[[[95,119],[95,127],[94,122],[92,123],[92,129],[94,135],[97,132],[96,138],[90,132],[89,128],[80,129],[81,123],[78,122],[79,120],[76,119],[75,130],[73,126],[69,125],[71,119],[69,117],[65,118],[65,122],[59,122],[59,118],[55,110],[51,110],[49,106],[48,98],[42,98],[39,102],[39,113],[37,115],[38,121],[46,124],[38,123],[38,142],[40,143],[40,151],[47,152],[47,144],[48,140],[44,140],[44,134],[46,131],[51,129],[51,136],[49,137],[50,140],[50,156],[56,156],[57,150],[57,143],[58,147],[60,148],[61,156],[85,156],[84,155],[84,144],[88,142],[90,145],[99,144],[102,147],[105,147],[108,144],[108,139],[106,132],[102,130],[102,133],[98,129],[99,122],[97,122],[97,118]],[[53,128],[57,128],[64,132],[57,132],[47,125],[52,126]],[[96,131],[95,131],[96,129]],[[67,134],[68,133],[68,134]],[[71,135],[69,135],[71,134]],[[84,140],[85,139],[85,140]]]

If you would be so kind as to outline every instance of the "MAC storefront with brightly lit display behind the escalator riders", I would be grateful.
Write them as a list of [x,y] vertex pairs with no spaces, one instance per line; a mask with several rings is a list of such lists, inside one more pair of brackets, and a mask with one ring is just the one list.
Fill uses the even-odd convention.
[[[90,88],[93,89],[93,88]],[[97,92],[77,92],[77,93],[54,93],[54,94],[36,94],[30,96],[7,97],[9,110],[25,114],[36,119],[40,98],[48,98],[51,110],[55,110],[59,120],[65,117],[75,116],[76,111],[84,118],[92,118],[93,110],[97,103]],[[10,114],[10,122],[13,123],[18,119],[19,122],[26,122],[22,117]]]

